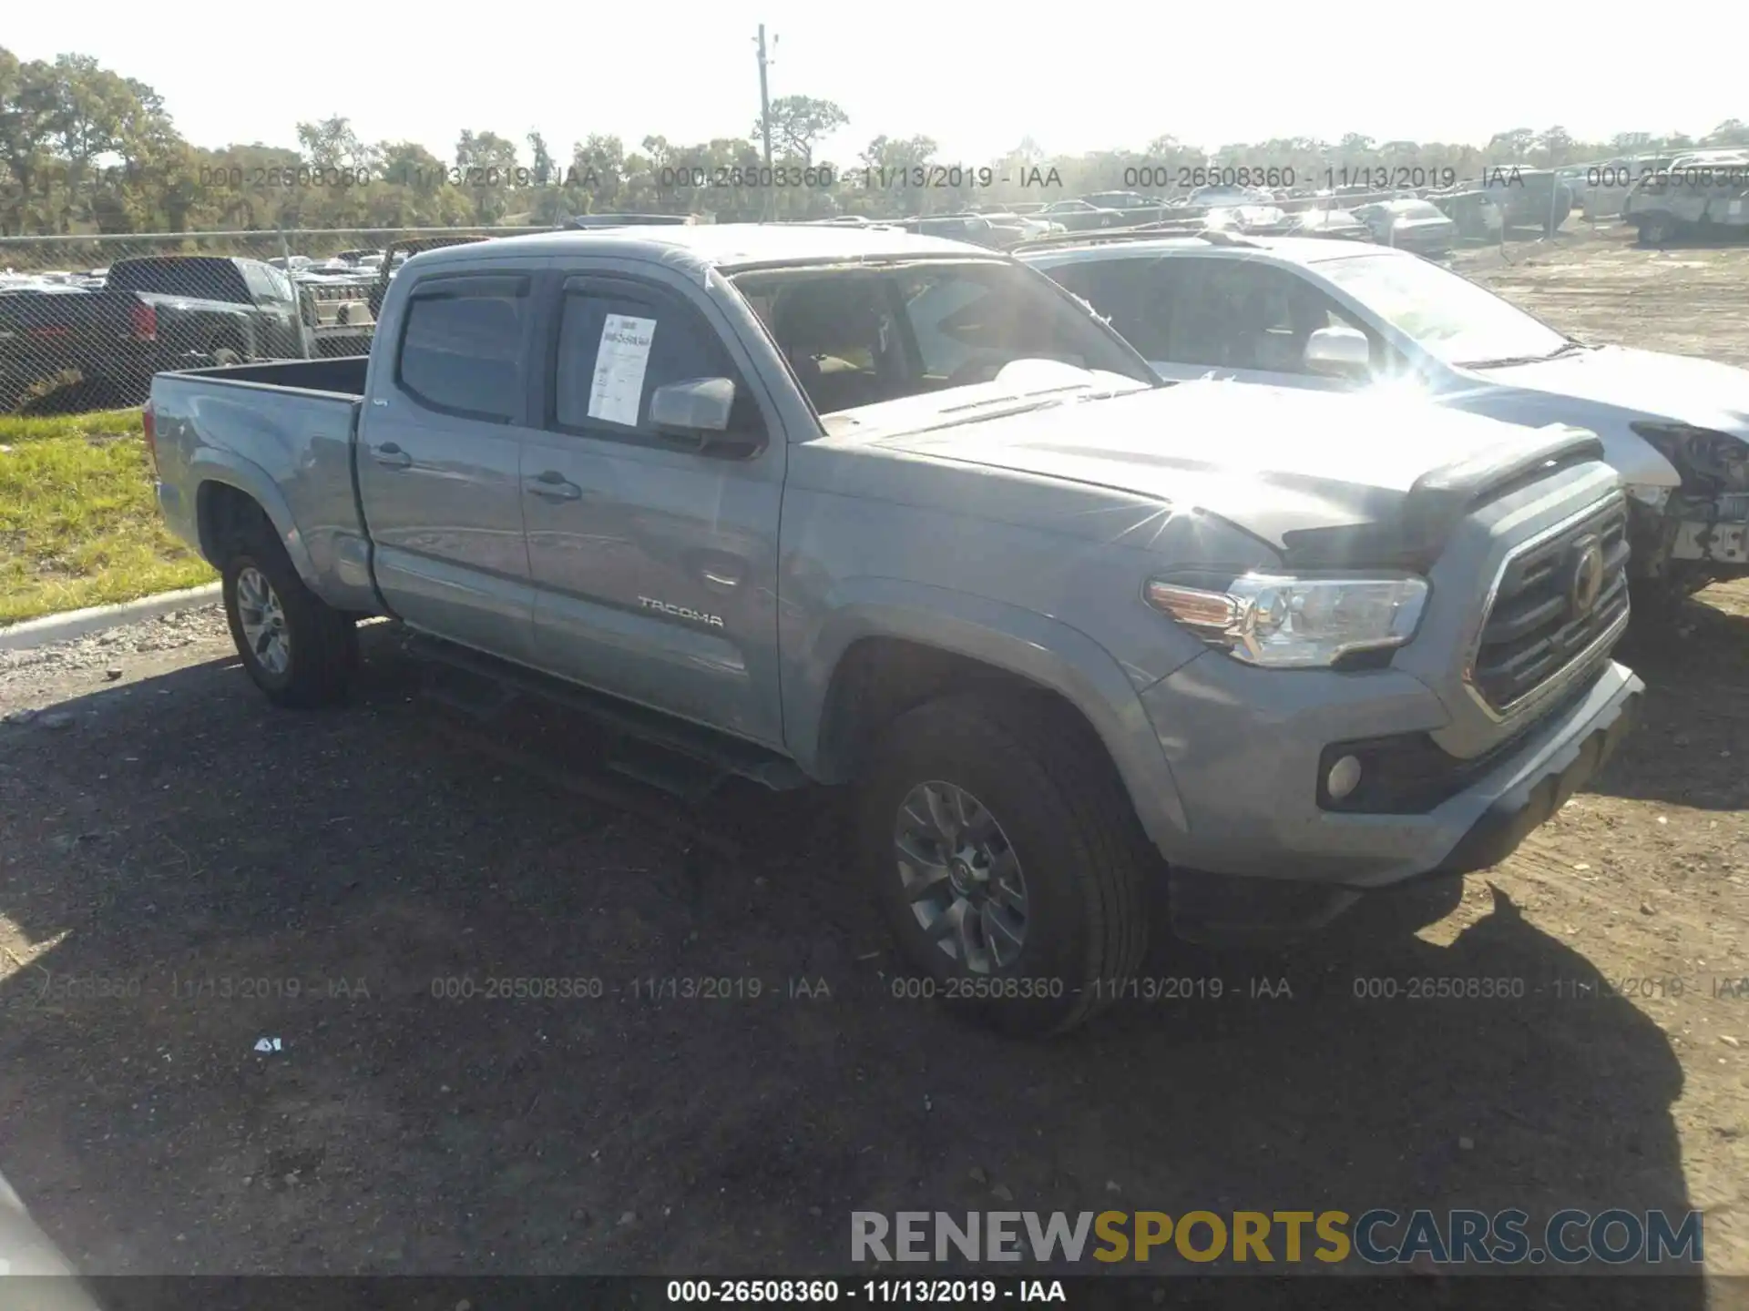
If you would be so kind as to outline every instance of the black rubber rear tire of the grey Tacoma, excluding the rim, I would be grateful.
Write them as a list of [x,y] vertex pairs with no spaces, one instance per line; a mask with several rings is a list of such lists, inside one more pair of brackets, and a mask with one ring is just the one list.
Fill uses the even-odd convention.
[[[240,600],[245,573],[264,577],[278,601],[280,631],[287,659],[269,668],[245,633],[247,601]],[[292,568],[285,547],[266,526],[247,531],[224,559],[224,614],[243,668],[276,706],[331,706],[346,697],[346,683],[359,662],[359,631],[350,615],[334,610],[311,593]],[[254,579],[245,580],[248,593]]]

